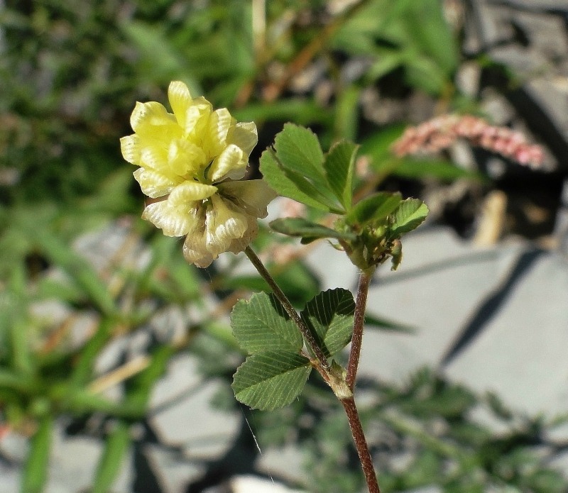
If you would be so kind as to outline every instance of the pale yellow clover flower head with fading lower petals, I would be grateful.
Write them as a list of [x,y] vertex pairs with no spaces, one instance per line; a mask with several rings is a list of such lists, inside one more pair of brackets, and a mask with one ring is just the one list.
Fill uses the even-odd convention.
[[275,193],[262,179],[233,181],[244,176],[258,140],[253,122],[237,123],[226,108],[213,111],[183,82],[171,82],[168,99],[173,113],[155,101],[136,103],[122,155],[140,166],[134,177],[142,192],[160,198],[142,217],[167,236],[186,236],[185,258],[207,267],[251,243]]

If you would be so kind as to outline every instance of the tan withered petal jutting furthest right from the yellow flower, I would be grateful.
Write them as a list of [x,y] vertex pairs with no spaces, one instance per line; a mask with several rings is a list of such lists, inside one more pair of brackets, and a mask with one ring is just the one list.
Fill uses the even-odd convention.
[[264,218],[268,216],[266,207],[275,199],[276,192],[263,179],[246,182],[224,182],[218,185],[219,194],[228,197],[246,214]]

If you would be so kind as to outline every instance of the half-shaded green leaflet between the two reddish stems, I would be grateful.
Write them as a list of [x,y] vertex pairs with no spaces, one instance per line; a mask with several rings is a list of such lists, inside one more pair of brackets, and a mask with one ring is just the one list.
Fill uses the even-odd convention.
[[354,311],[353,294],[347,289],[336,288],[321,292],[308,301],[300,315],[314,329],[320,347],[329,358],[351,340]]

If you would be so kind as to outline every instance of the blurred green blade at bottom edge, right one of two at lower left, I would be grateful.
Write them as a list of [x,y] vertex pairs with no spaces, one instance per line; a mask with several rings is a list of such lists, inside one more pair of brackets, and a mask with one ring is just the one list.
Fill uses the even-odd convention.
[[120,471],[124,455],[130,445],[129,424],[120,421],[107,437],[104,450],[94,475],[91,493],[107,493]]

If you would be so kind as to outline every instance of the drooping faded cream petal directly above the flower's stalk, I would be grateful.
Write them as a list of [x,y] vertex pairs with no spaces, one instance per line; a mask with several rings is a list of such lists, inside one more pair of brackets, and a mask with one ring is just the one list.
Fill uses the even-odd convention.
[[248,226],[246,215],[236,211],[236,208],[232,209],[229,204],[213,195],[211,204],[207,206],[207,250],[215,257],[229,250],[232,240],[241,238]]

